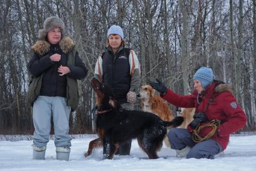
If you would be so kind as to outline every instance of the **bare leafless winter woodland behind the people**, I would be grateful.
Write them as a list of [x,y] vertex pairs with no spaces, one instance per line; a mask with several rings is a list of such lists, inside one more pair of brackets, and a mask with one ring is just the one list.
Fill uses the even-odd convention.
[[122,26],[126,46],[139,58],[142,84],[160,78],[187,95],[196,69],[211,67],[216,79],[233,85],[248,119],[244,131],[255,131],[255,1],[0,0],[0,134],[33,133],[26,66],[49,16],[63,19],[89,69],[81,81],[80,106],[70,115],[71,134],[93,133],[95,95],[89,82],[113,24]]

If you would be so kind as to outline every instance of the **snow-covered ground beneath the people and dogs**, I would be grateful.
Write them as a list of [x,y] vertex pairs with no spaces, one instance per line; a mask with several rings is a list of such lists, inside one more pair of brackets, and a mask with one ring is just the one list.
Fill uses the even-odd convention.
[[70,161],[58,161],[54,141],[46,149],[46,160],[32,160],[31,140],[0,141],[0,170],[256,170],[256,135],[231,137],[224,154],[214,160],[177,158],[175,151],[163,146],[157,160],[147,155],[133,140],[131,155],[115,155],[102,160],[102,149],[84,158],[89,141],[96,135],[84,135],[72,140]]

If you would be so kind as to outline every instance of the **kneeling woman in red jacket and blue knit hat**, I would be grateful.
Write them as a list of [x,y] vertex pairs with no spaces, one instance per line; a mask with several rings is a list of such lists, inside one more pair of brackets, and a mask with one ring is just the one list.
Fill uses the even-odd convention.
[[[193,121],[187,129],[172,128],[167,136],[172,149],[179,157],[210,158],[226,149],[229,135],[242,129],[246,124],[246,115],[237,104],[232,94],[232,87],[222,81],[214,79],[213,71],[208,67],[201,67],[193,76],[194,90],[192,95],[180,96],[165,87],[163,82],[150,82],[150,85],[160,92],[160,96],[167,102],[183,108],[196,108]],[[207,125],[216,124],[216,131]],[[205,137],[213,133],[206,140],[197,141],[193,138],[194,130],[200,129],[198,135]],[[209,134],[210,133],[210,134]]]

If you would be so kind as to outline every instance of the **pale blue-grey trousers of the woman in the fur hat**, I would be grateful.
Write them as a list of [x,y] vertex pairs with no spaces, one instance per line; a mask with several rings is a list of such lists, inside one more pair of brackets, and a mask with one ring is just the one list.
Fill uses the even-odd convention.
[[34,146],[43,147],[49,141],[51,116],[54,122],[54,144],[56,147],[71,146],[69,114],[66,98],[39,96],[33,105]]

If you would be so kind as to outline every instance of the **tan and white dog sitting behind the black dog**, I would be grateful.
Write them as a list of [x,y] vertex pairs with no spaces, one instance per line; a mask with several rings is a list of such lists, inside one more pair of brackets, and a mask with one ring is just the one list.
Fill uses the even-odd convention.
[[[165,121],[173,120],[172,111],[160,96],[155,96],[155,90],[151,85],[142,85],[140,87],[139,98],[142,101],[143,111],[154,113]],[[167,137],[164,138],[164,143],[170,147]]]

